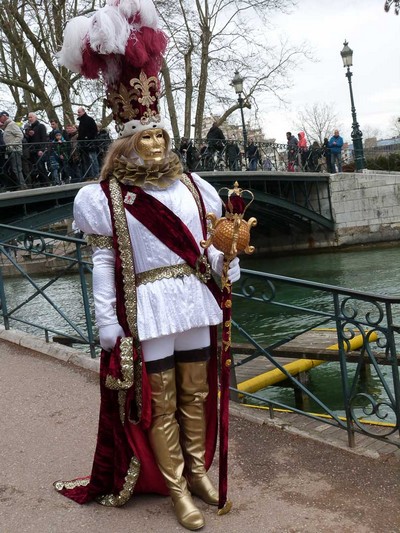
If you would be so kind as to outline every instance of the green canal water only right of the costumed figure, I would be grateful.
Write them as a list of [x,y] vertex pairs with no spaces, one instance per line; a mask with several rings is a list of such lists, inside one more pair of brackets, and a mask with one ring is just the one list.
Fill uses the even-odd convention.
[[[242,267],[251,270],[390,296],[400,296],[399,262],[400,245],[291,257],[243,257],[241,259]],[[283,292],[283,299],[291,304],[323,308],[325,296],[310,294],[310,291],[304,289],[287,287]],[[268,304],[254,304],[240,299],[234,301],[234,315],[235,311],[238,320],[240,317],[243,327],[263,346],[276,342],[288,334],[301,331],[316,320],[313,317],[304,316],[302,313],[274,308]],[[394,307],[393,311],[395,323],[400,323],[400,309]],[[240,340],[235,332],[233,340]],[[349,384],[354,376],[355,367],[354,364],[348,364]],[[391,368],[381,366],[380,369],[384,379],[389,384],[389,388],[393,390]],[[324,363],[312,369],[309,372],[307,387],[323,403],[329,405],[330,409],[340,415],[344,414],[339,363]],[[374,369],[371,370],[362,386],[357,386],[357,391],[370,393],[380,401],[387,399],[381,380]],[[271,386],[259,391],[257,395],[288,406],[295,405],[294,391],[290,386]],[[365,405],[366,402],[361,400],[357,404],[357,413],[362,414],[361,409]],[[312,400],[307,400],[306,409],[312,412],[324,412]],[[387,413],[386,420],[394,420],[394,414],[390,409],[383,407],[382,410]]]

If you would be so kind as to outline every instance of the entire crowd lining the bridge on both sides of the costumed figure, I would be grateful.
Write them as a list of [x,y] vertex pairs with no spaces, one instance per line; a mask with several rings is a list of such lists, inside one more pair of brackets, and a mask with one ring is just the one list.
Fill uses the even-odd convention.
[[[7,111],[0,112],[0,190],[27,189],[96,179],[103,157],[112,139],[107,128],[96,123],[83,107],[77,110],[77,122],[66,124],[50,120],[50,131],[34,112],[20,125]],[[254,138],[241,149],[234,138],[226,138],[217,122],[196,147],[182,138],[176,152],[187,170],[287,170],[289,172],[341,172],[343,139],[335,130],[320,145],[307,143],[305,133],[297,137],[286,133],[286,162],[273,165]]]

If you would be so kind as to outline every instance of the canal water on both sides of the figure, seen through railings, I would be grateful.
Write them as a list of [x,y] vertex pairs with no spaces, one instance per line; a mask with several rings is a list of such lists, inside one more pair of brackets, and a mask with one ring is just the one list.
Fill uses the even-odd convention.
[[[391,296],[400,296],[399,263],[400,245],[290,257],[243,256],[241,259],[242,267],[251,270]],[[45,285],[47,281],[45,277],[37,278],[37,282],[41,286]],[[90,286],[89,279],[88,283]],[[6,279],[5,289],[9,308],[18,305],[27,294],[32,293],[32,288],[28,282],[20,278]],[[74,323],[84,328],[85,316],[79,276],[63,277],[46,289],[46,294],[58,302]],[[59,332],[68,331],[74,334],[73,328],[52,309],[50,304],[44,302],[43,299],[40,301],[41,303],[38,305],[37,299],[33,299],[21,310],[19,316],[37,324],[51,325],[53,329]],[[301,293],[293,295],[290,303],[301,304],[305,307],[312,305],[311,302],[307,301],[307,297]],[[254,309],[254,304],[248,300],[235,300],[233,316],[235,318],[235,313],[238,313],[241,319],[245,317],[246,328],[249,327],[252,335],[264,345],[280,339],[282,335],[287,334],[288,330],[303,329],[307,325],[301,322],[303,320],[301,315],[288,317],[285,313],[271,309],[271,306],[266,306],[262,313],[255,312]],[[400,314],[398,319],[400,322]],[[12,322],[11,326],[37,334],[37,329],[23,323]],[[234,340],[239,339],[234,338]],[[352,372],[354,370],[350,365],[350,374]],[[384,375],[390,372],[389,367],[385,367],[383,372]],[[309,388],[331,409],[342,414],[343,402],[340,380],[339,364],[326,363],[310,372]],[[369,380],[371,391],[382,389],[377,376],[373,373]],[[259,394],[289,406],[294,405],[294,393],[290,387],[268,387],[265,391],[260,391]],[[313,402],[310,402],[309,410],[320,411]]]

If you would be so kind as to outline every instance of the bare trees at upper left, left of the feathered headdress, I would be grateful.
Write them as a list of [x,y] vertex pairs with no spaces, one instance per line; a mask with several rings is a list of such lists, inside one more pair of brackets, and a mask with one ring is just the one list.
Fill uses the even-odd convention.
[[0,83],[11,94],[18,120],[34,111],[72,121],[74,103],[90,108],[102,98],[99,84],[88,84],[56,60],[65,23],[99,4],[95,0],[2,0]]

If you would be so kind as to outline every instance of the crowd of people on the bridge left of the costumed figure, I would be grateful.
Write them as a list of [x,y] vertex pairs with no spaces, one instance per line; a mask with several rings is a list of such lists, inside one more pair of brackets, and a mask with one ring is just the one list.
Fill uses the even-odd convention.
[[111,136],[101,123],[77,110],[77,123],[63,127],[50,120],[50,131],[30,112],[25,124],[0,112],[0,188],[17,190],[97,179]]

